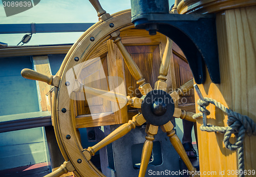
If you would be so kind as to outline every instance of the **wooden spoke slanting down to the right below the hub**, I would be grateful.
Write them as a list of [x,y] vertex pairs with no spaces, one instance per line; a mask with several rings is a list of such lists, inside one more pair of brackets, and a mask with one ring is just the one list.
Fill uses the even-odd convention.
[[179,156],[187,166],[187,169],[189,171],[196,171],[196,168],[191,164],[190,160],[187,157],[187,153],[178,138],[178,136],[175,134],[175,130],[167,131],[167,136],[170,139],[170,143],[174,146],[175,150],[178,152]]

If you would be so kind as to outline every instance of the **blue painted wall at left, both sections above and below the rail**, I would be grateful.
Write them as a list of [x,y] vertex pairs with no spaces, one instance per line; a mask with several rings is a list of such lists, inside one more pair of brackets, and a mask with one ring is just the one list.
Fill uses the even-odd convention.
[[[32,69],[29,56],[0,58],[0,116],[39,111],[36,82],[20,75],[24,68]],[[0,170],[46,162],[44,136],[42,127],[0,134]]]

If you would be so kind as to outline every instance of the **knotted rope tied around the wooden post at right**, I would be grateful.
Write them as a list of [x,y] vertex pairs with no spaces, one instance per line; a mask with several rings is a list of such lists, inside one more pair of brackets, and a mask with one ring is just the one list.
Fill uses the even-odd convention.
[[[209,105],[209,103],[214,104],[216,107],[221,109],[224,113],[228,115],[227,127],[215,126],[211,124],[207,124],[207,126],[201,125],[200,130],[207,132],[221,132],[224,134],[223,142],[225,147],[230,150],[238,149],[238,168],[239,171],[242,170],[242,174],[240,176],[244,176],[244,136],[245,132],[251,136],[256,135],[256,124],[247,116],[241,115],[239,113],[233,112],[232,110],[225,107],[220,102],[211,99],[204,98],[204,100],[199,99],[197,101],[198,110],[201,113],[197,113],[193,116],[194,119],[202,117],[203,114],[209,115],[210,112],[205,107]],[[236,142],[234,144],[230,143],[229,139],[231,135],[234,134],[236,136]]]

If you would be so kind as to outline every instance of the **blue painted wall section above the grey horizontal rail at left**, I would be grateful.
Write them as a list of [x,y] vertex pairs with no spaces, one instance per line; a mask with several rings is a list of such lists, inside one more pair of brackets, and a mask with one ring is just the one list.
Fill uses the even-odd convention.
[[20,71],[32,69],[30,57],[0,58],[0,116],[39,111],[35,81]]

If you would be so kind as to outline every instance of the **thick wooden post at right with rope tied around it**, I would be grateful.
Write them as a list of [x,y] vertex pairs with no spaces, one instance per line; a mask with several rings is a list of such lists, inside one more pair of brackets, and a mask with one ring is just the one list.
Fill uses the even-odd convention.
[[[189,2],[190,5],[188,5]],[[189,13],[193,9],[200,9],[199,13],[217,12],[216,26],[221,83],[212,83],[207,72],[205,83],[198,85],[203,97],[215,99],[229,109],[246,115],[256,122],[256,2],[247,0],[232,1],[232,3],[207,1],[207,4],[199,3],[196,6],[191,1],[186,3],[179,4],[178,11],[180,13]],[[196,101],[199,99],[197,94],[195,94],[195,99]],[[210,119],[207,119],[207,123],[227,126],[227,115],[224,115],[212,104],[206,108],[210,111],[208,116]],[[238,170],[237,151],[225,148],[223,134],[201,131],[199,127],[202,124],[203,120],[198,119],[200,171],[217,171],[218,173],[225,170],[225,175],[218,176],[226,176],[228,175],[227,170]],[[231,143],[234,143],[234,138]],[[256,137],[246,135],[244,165],[247,171],[256,169],[255,146]]]

